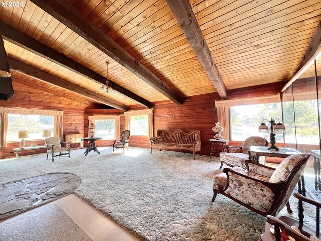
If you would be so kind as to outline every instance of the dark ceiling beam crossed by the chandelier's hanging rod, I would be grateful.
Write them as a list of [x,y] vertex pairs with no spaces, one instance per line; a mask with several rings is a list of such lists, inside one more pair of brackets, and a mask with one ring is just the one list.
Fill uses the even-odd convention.
[[[49,59],[50,61],[61,65],[74,73],[77,73],[85,78],[95,81],[99,84],[106,84],[106,78],[97,74],[96,72],[82,66],[76,61],[68,58],[67,56],[49,48],[48,46],[38,42],[37,40],[29,37],[28,35],[20,32],[19,30],[11,27],[10,25],[0,21],[0,34],[3,38],[19,47],[22,47],[30,52],[37,54],[41,57]],[[150,108],[150,102],[144,98],[132,93],[131,91],[125,89],[119,84],[109,81],[109,86],[117,91],[119,94],[141,104],[145,107]]]

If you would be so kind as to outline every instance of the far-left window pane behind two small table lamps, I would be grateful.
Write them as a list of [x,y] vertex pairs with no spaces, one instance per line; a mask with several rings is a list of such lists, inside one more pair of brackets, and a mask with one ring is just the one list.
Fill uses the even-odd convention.
[[29,115],[29,114],[8,114],[7,141],[19,141],[18,131],[27,130],[29,137],[26,140],[44,139],[42,131],[54,130],[54,116]]

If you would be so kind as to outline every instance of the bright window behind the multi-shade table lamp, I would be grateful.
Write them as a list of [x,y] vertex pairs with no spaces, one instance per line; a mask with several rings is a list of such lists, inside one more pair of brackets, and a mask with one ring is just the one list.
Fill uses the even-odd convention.
[[[234,141],[244,141],[250,136],[262,136],[269,141],[268,133],[258,131],[263,119],[278,118],[282,122],[281,103],[233,106],[230,114],[231,140]],[[276,142],[283,142],[283,134],[276,135]]]

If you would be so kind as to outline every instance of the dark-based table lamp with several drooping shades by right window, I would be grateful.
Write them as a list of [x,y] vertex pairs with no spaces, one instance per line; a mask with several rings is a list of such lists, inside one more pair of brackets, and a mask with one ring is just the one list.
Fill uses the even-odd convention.
[[[276,122],[276,120],[278,122]],[[267,123],[271,123],[271,125],[267,126],[264,123],[264,121],[266,121]],[[271,121],[268,121],[267,119],[263,119],[261,125],[259,126],[259,132],[270,133],[271,146],[268,148],[268,150],[275,150],[275,151],[280,150],[278,147],[275,146],[275,143],[276,143],[275,136],[276,134],[279,134],[279,133],[285,133],[285,126],[282,123],[280,123],[279,119],[271,119]]]

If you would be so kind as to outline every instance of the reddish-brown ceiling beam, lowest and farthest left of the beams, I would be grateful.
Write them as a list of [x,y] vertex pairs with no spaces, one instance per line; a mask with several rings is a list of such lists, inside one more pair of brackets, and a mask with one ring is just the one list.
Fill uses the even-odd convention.
[[77,94],[80,94],[82,96],[85,96],[91,100],[97,101],[99,103],[114,107],[116,109],[121,109],[123,111],[127,110],[127,106],[121,103],[118,103],[112,99],[106,98],[104,96],[101,96],[93,91],[90,91],[88,89],[85,89],[83,87],[80,87],[79,85],[70,83],[64,79],[58,78],[56,76],[53,76],[51,74],[48,74],[40,69],[37,69],[35,67],[32,67],[28,64],[25,64],[23,62],[20,62],[18,60],[15,60],[11,57],[8,57],[8,63],[11,69],[16,70],[20,73],[29,75],[33,78],[36,78],[38,80],[56,85],[58,87],[61,87],[63,89],[67,89],[70,91],[73,91]]

